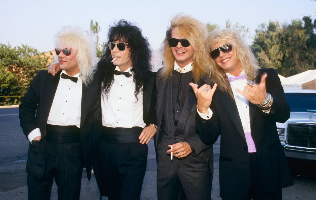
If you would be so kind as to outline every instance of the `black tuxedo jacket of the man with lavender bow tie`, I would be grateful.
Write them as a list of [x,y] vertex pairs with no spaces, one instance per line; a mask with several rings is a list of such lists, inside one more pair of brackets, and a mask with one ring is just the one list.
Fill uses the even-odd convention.
[[[276,122],[284,123],[290,116],[283,87],[274,69],[260,69],[257,83],[266,72],[266,91],[273,97],[269,114],[249,102],[251,136],[257,150],[261,184],[266,191],[275,191],[293,185],[283,146],[276,132]],[[220,196],[223,199],[245,199],[249,186],[249,156],[236,102],[217,89],[211,103],[213,116],[201,134],[206,144],[212,144],[221,135],[219,161]],[[216,129],[207,129],[212,124]],[[207,131],[208,130],[208,131]]]

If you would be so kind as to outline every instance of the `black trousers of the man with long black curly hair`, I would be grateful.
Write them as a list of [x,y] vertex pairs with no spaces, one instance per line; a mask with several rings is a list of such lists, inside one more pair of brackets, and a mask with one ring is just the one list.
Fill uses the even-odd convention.
[[139,141],[99,143],[101,178],[108,186],[109,200],[138,200],[147,167],[147,144]]

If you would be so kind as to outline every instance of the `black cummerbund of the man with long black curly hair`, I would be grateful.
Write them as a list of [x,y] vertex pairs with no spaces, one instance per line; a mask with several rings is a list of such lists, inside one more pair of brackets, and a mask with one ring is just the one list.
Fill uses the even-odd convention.
[[138,141],[143,131],[142,127],[133,128],[111,128],[102,126],[101,139],[112,144],[124,144]]

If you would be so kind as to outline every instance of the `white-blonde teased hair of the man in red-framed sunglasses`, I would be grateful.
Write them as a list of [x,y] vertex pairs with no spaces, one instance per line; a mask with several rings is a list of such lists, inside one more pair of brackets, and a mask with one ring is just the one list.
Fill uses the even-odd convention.
[[85,85],[92,82],[98,58],[93,35],[79,27],[64,26],[55,35],[55,48],[71,48],[78,52],[80,77]]

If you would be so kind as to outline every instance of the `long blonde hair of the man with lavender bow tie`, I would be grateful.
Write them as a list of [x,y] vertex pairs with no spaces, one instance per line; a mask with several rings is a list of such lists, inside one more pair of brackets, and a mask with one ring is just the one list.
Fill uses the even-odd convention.
[[[239,60],[241,71],[244,70],[247,74],[247,80],[256,80],[258,73],[258,61],[249,45],[247,45],[240,37],[238,31],[233,29],[215,29],[209,33],[207,43],[209,45],[208,54],[210,55],[210,49],[216,43],[229,43],[233,45],[234,54]],[[209,56],[210,66],[211,66],[211,79],[214,83],[217,83],[219,88],[227,92],[232,98],[234,95],[232,93],[230,84],[227,80],[226,74],[223,69],[217,65],[216,61]],[[240,71],[240,72],[241,72]]]

